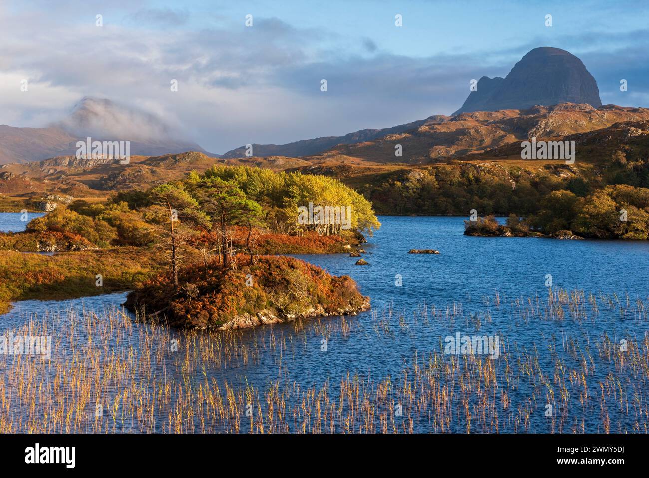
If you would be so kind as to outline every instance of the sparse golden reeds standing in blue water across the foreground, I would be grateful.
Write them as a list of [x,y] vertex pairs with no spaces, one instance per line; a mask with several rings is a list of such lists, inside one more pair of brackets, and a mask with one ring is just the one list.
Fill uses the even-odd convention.
[[[52,355],[0,354],[0,433],[648,431],[646,300],[550,289],[474,306],[235,331],[117,307],[25,316],[3,334],[52,336]],[[445,353],[456,331],[497,335],[498,358]]]

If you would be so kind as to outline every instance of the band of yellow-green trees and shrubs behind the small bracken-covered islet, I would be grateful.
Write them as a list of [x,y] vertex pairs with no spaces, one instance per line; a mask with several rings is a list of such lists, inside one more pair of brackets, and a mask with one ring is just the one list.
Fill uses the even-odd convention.
[[[299,223],[299,208],[310,203],[349,208],[349,228],[317,221]],[[38,234],[35,240],[40,242],[64,238],[66,244],[76,243],[79,249],[160,245],[168,253],[178,284],[178,266],[188,248],[198,251],[204,264],[217,255],[223,267],[236,268],[239,253],[255,262],[262,237],[266,240],[261,250],[267,253],[281,237],[299,236],[299,244],[289,245],[303,247],[309,240],[305,234],[357,238],[378,227],[371,203],[336,179],[241,166],[214,167],[202,175],[192,172],[182,181],[147,191],[119,192],[105,204],[75,201],[69,207],[59,205],[32,220],[27,234]],[[336,241],[328,245],[338,252],[342,247]]]

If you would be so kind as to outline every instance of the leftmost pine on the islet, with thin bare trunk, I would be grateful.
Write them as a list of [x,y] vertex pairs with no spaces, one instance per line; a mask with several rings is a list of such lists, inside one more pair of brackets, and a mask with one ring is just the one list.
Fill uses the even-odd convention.
[[[169,182],[153,188],[149,195],[151,203],[158,207],[154,216],[165,225],[162,238],[170,247],[171,274],[178,288],[178,264],[182,260],[179,249],[193,235],[191,226],[208,227],[209,218],[199,208],[199,203],[184,190],[182,183]],[[168,229],[166,229],[168,225]]]

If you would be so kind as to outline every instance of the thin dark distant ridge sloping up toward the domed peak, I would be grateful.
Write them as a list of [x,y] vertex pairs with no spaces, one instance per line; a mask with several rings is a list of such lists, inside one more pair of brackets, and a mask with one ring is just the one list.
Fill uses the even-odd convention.
[[[413,121],[406,125],[398,125],[391,128],[384,129],[361,129],[360,131],[350,132],[345,136],[323,136],[322,138],[315,138],[313,140],[301,140],[288,144],[253,144],[252,155],[256,157],[269,157],[269,156],[288,156],[288,157],[302,157],[317,155],[322,151],[326,151],[339,144],[356,144],[363,141],[372,141],[377,138],[382,138],[387,134],[395,134],[409,129],[417,128],[426,121],[433,121],[438,116],[431,116],[428,119],[420,121]],[[225,153],[222,158],[243,158],[245,157],[245,146],[232,149]]]

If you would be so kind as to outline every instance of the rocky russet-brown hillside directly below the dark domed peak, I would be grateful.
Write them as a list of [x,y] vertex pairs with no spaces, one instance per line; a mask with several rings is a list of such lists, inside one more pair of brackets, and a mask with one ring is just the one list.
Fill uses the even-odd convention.
[[[461,113],[436,118],[399,134],[373,141],[337,145],[308,160],[359,161],[380,164],[429,164],[449,158],[470,158],[489,149],[530,138],[554,138],[602,129],[624,121],[648,121],[649,109],[563,103],[525,110]],[[395,147],[402,146],[402,157]]]

